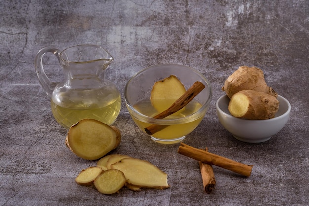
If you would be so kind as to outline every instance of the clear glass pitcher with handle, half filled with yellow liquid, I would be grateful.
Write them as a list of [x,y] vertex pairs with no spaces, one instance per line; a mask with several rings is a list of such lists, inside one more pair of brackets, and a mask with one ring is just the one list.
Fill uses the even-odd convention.
[[[58,58],[64,82],[51,81],[43,68],[44,54]],[[35,70],[39,82],[51,99],[51,110],[57,122],[70,128],[79,120],[96,119],[112,124],[119,115],[121,95],[114,83],[104,78],[113,57],[102,47],[79,45],[63,51],[54,47],[39,50]]]

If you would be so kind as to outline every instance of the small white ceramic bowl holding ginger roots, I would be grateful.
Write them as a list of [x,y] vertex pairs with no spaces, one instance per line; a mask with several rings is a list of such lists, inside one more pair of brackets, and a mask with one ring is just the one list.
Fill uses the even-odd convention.
[[236,139],[249,143],[265,142],[285,126],[290,116],[291,105],[288,100],[280,95],[278,95],[278,100],[279,110],[274,118],[246,120],[230,114],[228,110],[230,99],[227,95],[223,95],[216,102],[217,115],[223,127]]

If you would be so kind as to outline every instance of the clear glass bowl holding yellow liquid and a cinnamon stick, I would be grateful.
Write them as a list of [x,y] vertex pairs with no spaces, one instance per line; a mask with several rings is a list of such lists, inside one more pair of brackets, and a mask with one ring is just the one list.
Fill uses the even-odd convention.
[[[154,115],[158,112],[150,103],[152,87],[155,82],[170,75],[178,77],[186,89],[196,81],[202,82],[205,88],[185,106],[185,110],[180,114],[170,115],[164,119],[154,119]],[[137,72],[127,82],[124,97],[132,119],[142,131],[146,133],[145,128],[155,124],[160,130],[150,135],[151,139],[158,143],[173,144],[182,141],[200,124],[208,110],[212,98],[212,88],[208,80],[193,68],[176,64],[162,64]]]

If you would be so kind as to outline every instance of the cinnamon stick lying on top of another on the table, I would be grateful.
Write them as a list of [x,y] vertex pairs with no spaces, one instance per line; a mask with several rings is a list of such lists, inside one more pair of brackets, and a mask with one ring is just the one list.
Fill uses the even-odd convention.
[[195,160],[201,161],[202,163],[216,165],[224,169],[228,169],[230,171],[236,172],[246,177],[250,176],[253,167],[253,165],[245,165],[243,163],[239,163],[231,159],[191,147],[184,143],[180,143],[178,153],[193,158]]

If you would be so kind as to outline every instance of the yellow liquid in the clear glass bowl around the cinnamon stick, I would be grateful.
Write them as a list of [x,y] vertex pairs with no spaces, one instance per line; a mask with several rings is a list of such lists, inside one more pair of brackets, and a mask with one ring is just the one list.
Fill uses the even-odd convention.
[[[198,111],[199,108],[201,108],[201,106],[202,105],[199,102],[191,101],[189,102],[189,104],[187,104],[184,107],[184,110],[182,110],[181,113],[174,113],[164,119],[177,119],[177,118],[186,117]],[[141,112],[142,114],[145,114],[150,117],[154,117],[157,114],[157,111],[148,101],[139,102],[134,105],[134,108],[138,110],[139,112]],[[205,113],[206,113],[206,110],[203,112],[203,114],[199,118],[194,119],[194,120],[189,118],[185,122],[180,122],[179,124],[167,125],[162,130],[154,133],[151,136],[157,139],[161,139],[162,142],[160,143],[169,144],[169,141],[176,140],[177,138],[181,138],[189,134],[190,132],[192,132],[198,126],[198,124],[202,121]],[[134,117],[133,117],[133,120],[137,124],[137,126],[140,127],[144,132],[145,132],[144,128],[151,125],[149,123],[145,123],[140,120],[137,120]]]

